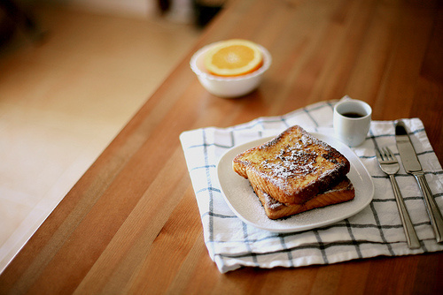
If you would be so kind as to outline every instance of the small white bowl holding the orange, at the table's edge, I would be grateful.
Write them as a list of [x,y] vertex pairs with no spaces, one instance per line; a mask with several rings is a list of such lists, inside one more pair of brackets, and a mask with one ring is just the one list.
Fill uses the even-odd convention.
[[272,57],[267,49],[258,45],[263,55],[263,65],[257,71],[237,77],[219,77],[207,72],[204,65],[206,51],[215,44],[212,43],[198,49],[190,58],[190,69],[195,72],[200,84],[209,93],[224,98],[234,98],[247,95],[259,87],[263,73],[268,70],[272,63]]

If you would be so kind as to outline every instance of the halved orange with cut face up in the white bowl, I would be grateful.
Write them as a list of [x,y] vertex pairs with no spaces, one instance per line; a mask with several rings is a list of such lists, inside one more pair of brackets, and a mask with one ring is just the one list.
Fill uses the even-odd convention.
[[245,75],[258,70],[262,64],[259,46],[241,39],[218,42],[205,56],[206,70],[217,76]]

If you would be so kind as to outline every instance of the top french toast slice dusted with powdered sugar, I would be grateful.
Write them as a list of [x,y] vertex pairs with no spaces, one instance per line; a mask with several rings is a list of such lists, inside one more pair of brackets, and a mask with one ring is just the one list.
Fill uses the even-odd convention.
[[305,203],[337,185],[350,170],[344,155],[299,125],[237,155],[232,166],[253,186],[286,205]]

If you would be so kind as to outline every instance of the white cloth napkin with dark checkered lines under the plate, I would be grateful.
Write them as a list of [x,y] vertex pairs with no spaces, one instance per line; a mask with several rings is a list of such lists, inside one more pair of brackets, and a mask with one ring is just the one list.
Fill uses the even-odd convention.
[[[348,99],[345,97],[344,99]],[[406,243],[389,178],[377,164],[374,147],[390,147],[400,159],[393,121],[371,122],[369,137],[354,153],[366,166],[375,186],[374,199],[361,212],[341,222],[310,231],[276,233],[242,222],[225,202],[216,165],[230,147],[269,135],[291,125],[308,132],[332,134],[337,101],[318,102],[281,117],[259,117],[252,122],[221,129],[208,127],[183,132],[180,140],[196,194],[209,255],[221,273],[240,267],[300,267],[340,261],[398,256],[443,250],[436,243],[416,179],[400,165],[396,179],[415,225],[419,249]],[[439,208],[443,208],[443,171],[418,118],[404,119],[425,177]],[[235,173],[235,172],[232,172]]]

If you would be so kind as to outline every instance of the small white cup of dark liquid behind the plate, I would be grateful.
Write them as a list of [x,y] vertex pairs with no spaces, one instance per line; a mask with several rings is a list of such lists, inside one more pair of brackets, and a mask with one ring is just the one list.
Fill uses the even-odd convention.
[[346,100],[334,107],[334,131],[338,140],[358,147],[369,132],[372,109],[366,102]]

